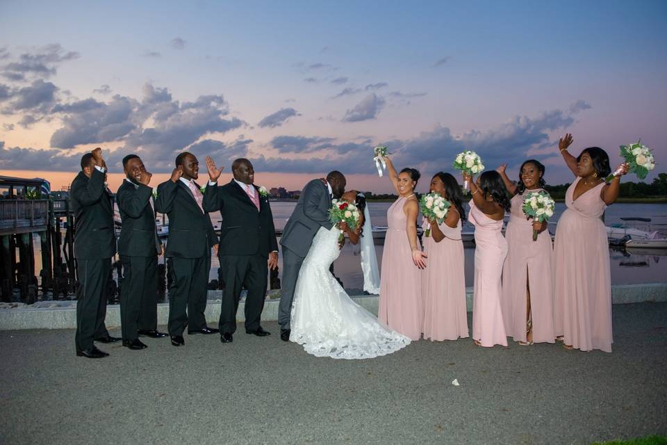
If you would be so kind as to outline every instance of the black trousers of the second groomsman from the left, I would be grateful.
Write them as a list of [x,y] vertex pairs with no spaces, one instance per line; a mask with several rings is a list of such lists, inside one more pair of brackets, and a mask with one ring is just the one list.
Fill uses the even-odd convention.
[[123,278],[120,323],[124,340],[138,337],[138,330],[158,327],[158,256],[121,255]]

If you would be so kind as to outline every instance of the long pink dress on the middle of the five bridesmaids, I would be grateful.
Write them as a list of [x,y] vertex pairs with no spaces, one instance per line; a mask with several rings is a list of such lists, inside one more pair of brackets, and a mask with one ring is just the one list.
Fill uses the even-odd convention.
[[481,346],[507,346],[502,321],[500,276],[507,256],[507,241],[500,233],[502,220],[492,220],[470,200],[470,223],[475,225],[475,293],[472,300],[472,338]]

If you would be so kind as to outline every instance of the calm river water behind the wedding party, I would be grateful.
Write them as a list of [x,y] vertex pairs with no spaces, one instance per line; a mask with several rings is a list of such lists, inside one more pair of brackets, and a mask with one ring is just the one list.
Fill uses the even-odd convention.
[[[389,202],[370,202],[368,209],[373,225],[386,225],[387,209]],[[285,227],[287,219],[295,207],[295,202],[272,202],[271,209],[274,215],[274,223],[277,229]],[[565,204],[556,204],[556,213],[552,220],[557,222],[558,217],[566,209]],[[661,234],[667,236],[667,204],[614,204],[607,208],[605,213],[605,224],[614,225],[623,223],[621,217],[643,217],[651,218],[652,222],[640,223],[633,226],[642,230],[659,230]],[[211,213],[211,219],[215,225],[220,225],[220,214]],[[465,229],[466,227],[464,227]],[[550,231],[555,232],[556,226],[550,225]],[[379,241],[381,243],[381,241]],[[376,245],[375,251],[379,264],[382,261],[382,245]],[[466,256],[466,286],[472,286],[472,277],[474,273],[475,248],[470,247],[465,250]],[[645,282],[665,282],[667,281],[667,249],[645,253],[629,253],[623,249],[609,249],[609,258],[611,260],[611,282],[613,284],[637,284]],[[40,265],[40,243],[39,238],[35,238],[35,273],[38,274]],[[160,259],[162,262],[163,259]],[[213,254],[211,265],[211,280],[217,278],[217,268],[220,264],[217,257]],[[282,268],[282,257],[279,254],[279,268]],[[361,256],[359,246],[346,244],[340,257],[334,263],[336,276],[343,281],[347,289],[362,289],[363,275],[361,272]]]

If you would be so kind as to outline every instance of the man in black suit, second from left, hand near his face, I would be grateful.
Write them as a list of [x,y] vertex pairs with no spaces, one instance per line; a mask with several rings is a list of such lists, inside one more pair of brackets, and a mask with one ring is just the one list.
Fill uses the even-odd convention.
[[123,158],[126,178],[116,193],[122,228],[118,253],[123,265],[120,318],[123,346],[145,349],[140,335],[159,339],[158,332],[158,255],[163,245],[155,225],[151,173],[136,154]]

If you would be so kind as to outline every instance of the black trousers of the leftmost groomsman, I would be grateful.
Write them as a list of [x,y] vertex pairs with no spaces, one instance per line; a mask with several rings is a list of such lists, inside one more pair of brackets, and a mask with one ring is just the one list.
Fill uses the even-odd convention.
[[92,348],[94,339],[106,337],[107,284],[111,273],[111,259],[77,259],[76,273],[76,350]]

